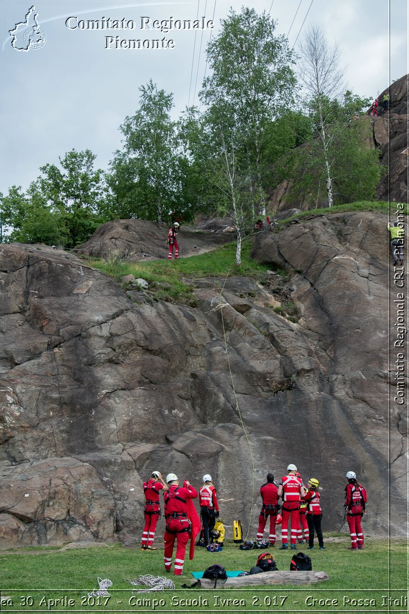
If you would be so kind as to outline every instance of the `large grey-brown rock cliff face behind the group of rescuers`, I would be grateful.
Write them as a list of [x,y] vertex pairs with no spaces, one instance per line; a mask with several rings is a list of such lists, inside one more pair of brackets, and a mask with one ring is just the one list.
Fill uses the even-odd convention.
[[289,462],[319,479],[324,530],[342,526],[356,471],[372,534],[388,530],[391,465],[392,527],[405,533],[385,227],[338,214],[257,235],[254,257],[293,273],[298,322],[273,311],[273,272],[264,286],[192,281],[198,308],[141,304],[72,254],[2,246],[1,547],[139,541],[153,469],[196,486],[211,473],[227,532],[240,518],[254,537],[259,486]]

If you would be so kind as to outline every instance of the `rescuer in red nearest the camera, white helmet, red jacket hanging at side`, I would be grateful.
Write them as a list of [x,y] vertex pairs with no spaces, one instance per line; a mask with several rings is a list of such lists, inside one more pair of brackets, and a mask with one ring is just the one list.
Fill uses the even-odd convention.
[[166,529],[164,534],[165,551],[164,564],[167,572],[172,567],[172,554],[175,539],[177,540],[174,574],[182,575],[185,562],[186,544],[190,536],[190,521],[188,518],[187,499],[196,499],[197,491],[186,481],[186,488],[179,486],[174,473],[166,476],[169,490],[164,494]]

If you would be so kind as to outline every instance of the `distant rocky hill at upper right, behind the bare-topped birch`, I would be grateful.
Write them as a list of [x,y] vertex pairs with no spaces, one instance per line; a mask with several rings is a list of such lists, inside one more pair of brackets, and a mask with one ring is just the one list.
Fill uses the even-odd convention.
[[[372,125],[370,145],[380,150],[380,163],[385,167],[383,177],[377,187],[378,200],[407,202],[408,198],[408,79],[405,75],[392,83],[379,96],[378,116],[360,120]],[[383,95],[389,91],[389,112],[383,112]],[[288,200],[291,185],[282,182],[269,195],[269,210],[288,211],[294,204]],[[325,194],[318,198],[317,207],[326,207]],[[297,208],[305,211],[307,201],[298,201]]]

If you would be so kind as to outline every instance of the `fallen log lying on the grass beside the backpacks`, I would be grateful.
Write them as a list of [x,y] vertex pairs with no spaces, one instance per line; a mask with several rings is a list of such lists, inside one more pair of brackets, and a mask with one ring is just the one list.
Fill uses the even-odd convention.
[[261,586],[271,584],[312,584],[329,580],[329,575],[326,572],[264,572],[253,573],[248,576],[240,576],[235,578],[227,578],[226,581],[208,580],[208,578],[199,578],[197,581],[201,588],[245,588],[246,586]]

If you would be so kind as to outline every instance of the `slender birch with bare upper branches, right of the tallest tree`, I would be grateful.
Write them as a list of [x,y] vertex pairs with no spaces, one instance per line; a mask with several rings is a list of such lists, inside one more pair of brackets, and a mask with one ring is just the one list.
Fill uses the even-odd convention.
[[299,79],[312,132],[307,144],[285,162],[291,169],[292,200],[318,203],[325,193],[331,207],[334,202],[373,198],[381,177],[379,155],[369,145],[367,118],[359,117],[369,99],[345,91],[338,46],[327,44],[321,28],[310,28],[300,53]]

